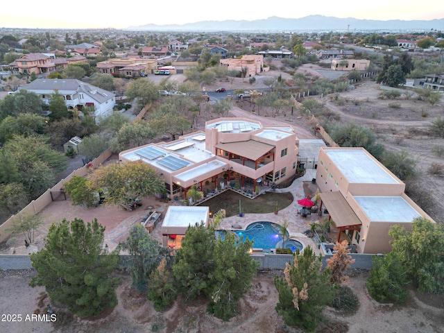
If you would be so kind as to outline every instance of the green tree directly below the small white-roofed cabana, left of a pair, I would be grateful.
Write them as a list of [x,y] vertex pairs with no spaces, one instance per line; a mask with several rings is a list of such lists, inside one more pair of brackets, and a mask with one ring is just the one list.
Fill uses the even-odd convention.
[[211,295],[215,246],[212,228],[196,223],[187,229],[182,239],[182,248],[176,251],[173,264],[174,277],[186,301],[194,300],[200,294]]

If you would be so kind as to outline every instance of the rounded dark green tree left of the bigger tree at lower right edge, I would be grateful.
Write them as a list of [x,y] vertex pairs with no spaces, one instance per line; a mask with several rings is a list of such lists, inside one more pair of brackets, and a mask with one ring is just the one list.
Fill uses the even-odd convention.
[[378,302],[402,302],[409,291],[406,287],[407,271],[400,259],[388,253],[384,257],[373,257],[373,267],[368,273],[366,288]]

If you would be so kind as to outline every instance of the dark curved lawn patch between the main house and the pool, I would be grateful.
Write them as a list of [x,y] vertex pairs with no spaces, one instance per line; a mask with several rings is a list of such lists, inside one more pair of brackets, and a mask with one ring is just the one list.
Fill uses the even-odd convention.
[[242,210],[245,214],[264,214],[274,212],[276,203],[278,203],[278,210],[289,206],[293,202],[293,195],[290,192],[266,192],[266,194],[250,199],[234,191],[225,191],[205,201],[205,203],[202,203],[202,206],[210,207],[210,212],[212,213],[224,209],[228,217],[239,214],[239,200],[241,200]]

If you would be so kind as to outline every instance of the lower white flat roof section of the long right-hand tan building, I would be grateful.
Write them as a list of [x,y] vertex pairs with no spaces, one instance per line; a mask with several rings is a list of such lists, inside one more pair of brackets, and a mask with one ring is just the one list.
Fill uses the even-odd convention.
[[421,215],[402,196],[353,196],[370,221],[413,222]]

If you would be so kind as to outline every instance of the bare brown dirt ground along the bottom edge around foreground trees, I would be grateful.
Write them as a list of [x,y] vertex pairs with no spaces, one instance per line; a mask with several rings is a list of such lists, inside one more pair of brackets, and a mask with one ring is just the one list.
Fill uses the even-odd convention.
[[[67,314],[66,309],[51,303],[56,311],[54,323],[25,321],[26,315],[46,311],[50,300],[42,287],[31,288],[27,283],[33,271],[0,271],[0,313],[21,314],[22,322],[0,322],[0,332],[73,332],[73,333],[133,333],[133,332],[302,332],[287,327],[275,312],[278,293],[273,277],[280,272],[259,273],[253,287],[240,303],[241,314],[223,322],[206,313],[205,302],[196,300],[182,306],[176,300],[162,312],[153,309],[152,302],[130,288],[128,275],[117,289],[119,304],[106,316],[80,320]],[[364,284],[366,271],[352,272],[350,287],[359,298],[359,309],[343,313],[327,307],[323,312],[327,322],[317,332],[352,333],[438,333],[444,325],[443,298],[432,298],[411,292],[405,305],[382,305],[370,298]],[[12,302],[11,302],[12,301]]]

